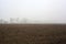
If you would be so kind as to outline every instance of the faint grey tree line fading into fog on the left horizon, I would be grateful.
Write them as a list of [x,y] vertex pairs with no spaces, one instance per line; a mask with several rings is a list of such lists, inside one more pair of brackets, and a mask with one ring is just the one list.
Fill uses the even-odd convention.
[[0,19],[0,23],[26,23],[26,22],[28,19],[22,19],[22,20],[20,20],[19,18],[16,19],[10,18],[10,20]]

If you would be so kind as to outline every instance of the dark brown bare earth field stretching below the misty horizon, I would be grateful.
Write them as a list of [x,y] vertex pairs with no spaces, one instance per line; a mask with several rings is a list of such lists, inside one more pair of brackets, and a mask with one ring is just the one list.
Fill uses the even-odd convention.
[[66,24],[0,24],[0,44],[66,44]]

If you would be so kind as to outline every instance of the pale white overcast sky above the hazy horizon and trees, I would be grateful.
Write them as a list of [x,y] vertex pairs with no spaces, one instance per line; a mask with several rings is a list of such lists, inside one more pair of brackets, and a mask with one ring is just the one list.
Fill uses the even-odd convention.
[[66,0],[0,0],[0,18],[66,22]]

